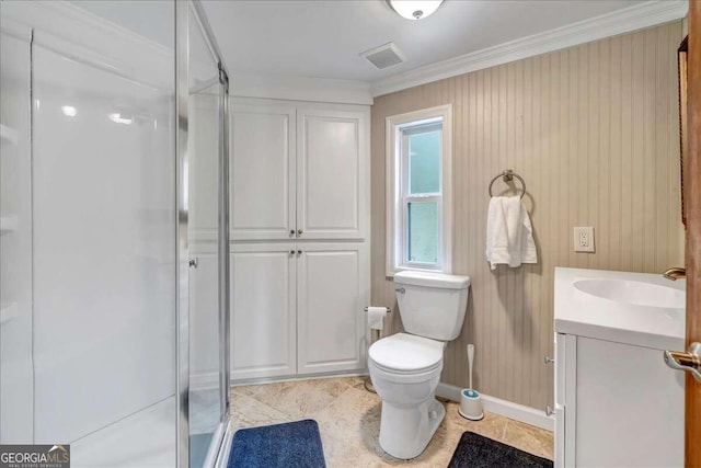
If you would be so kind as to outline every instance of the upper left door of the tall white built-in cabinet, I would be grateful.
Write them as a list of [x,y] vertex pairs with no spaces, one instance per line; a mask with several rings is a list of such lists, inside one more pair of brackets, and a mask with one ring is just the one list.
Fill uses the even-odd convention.
[[231,239],[294,238],[295,107],[231,107]]

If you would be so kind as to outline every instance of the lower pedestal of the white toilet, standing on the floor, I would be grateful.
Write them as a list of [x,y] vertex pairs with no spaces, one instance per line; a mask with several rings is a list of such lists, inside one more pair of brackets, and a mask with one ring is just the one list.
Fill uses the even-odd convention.
[[433,396],[418,407],[382,401],[380,447],[394,458],[421,455],[446,416],[446,409]]

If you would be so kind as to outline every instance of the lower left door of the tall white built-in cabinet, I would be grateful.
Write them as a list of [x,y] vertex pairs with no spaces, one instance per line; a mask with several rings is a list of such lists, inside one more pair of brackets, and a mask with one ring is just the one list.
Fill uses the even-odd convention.
[[296,372],[296,256],[291,243],[232,247],[231,378]]

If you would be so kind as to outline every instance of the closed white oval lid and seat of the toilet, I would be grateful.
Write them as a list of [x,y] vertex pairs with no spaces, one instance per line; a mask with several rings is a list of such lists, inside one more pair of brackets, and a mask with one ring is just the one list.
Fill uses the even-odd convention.
[[397,333],[376,341],[370,358],[388,369],[409,372],[435,367],[443,359],[443,342],[407,333]]

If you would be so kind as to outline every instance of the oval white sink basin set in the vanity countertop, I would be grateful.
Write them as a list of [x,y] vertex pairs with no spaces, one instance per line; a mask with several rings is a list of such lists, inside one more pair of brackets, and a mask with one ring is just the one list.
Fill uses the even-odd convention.
[[574,282],[574,287],[591,296],[633,306],[682,309],[686,294],[673,287],[630,279],[590,278]]

